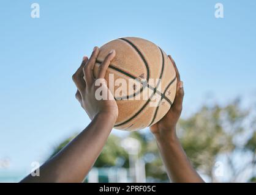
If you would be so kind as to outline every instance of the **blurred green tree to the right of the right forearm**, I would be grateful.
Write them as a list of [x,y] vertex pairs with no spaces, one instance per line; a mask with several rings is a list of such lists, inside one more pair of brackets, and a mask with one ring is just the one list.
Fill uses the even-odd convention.
[[[250,110],[241,109],[236,99],[224,107],[203,106],[181,120],[179,137],[195,168],[213,182],[239,182],[244,177],[254,177],[256,132],[249,118]],[[224,176],[215,176],[216,161],[222,163]],[[248,170],[251,176],[244,175]]]

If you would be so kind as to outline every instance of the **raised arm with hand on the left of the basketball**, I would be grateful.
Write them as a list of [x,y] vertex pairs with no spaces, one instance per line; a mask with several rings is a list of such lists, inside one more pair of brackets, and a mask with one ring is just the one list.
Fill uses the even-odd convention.
[[[77,85],[76,98],[92,119],[91,123],[40,167],[39,177],[29,174],[21,182],[82,182],[94,165],[118,117],[116,101],[104,79],[108,65],[115,57],[115,51],[111,51],[100,65],[96,79],[100,80],[101,86],[95,85],[96,79],[92,74],[98,54],[99,48],[94,48],[90,59],[84,57],[80,68],[73,75],[73,81]],[[99,87],[102,93],[108,94],[108,99],[96,99],[95,92]]]

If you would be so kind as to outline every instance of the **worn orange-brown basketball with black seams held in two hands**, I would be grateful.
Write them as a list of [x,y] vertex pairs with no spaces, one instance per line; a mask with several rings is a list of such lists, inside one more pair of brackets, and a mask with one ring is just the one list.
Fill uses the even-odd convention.
[[[175,99],[177,80],[173,63],[151,41],[137,37],[118,38],[100,47],[94,76],[111,49],[115,49],[116,56],[105,79],[118,104],[114,128],[132,131],[152,126],[163,118]],[[115,85],[111,86],[112,83]],[[124,85],[127,90],[120,90]]]

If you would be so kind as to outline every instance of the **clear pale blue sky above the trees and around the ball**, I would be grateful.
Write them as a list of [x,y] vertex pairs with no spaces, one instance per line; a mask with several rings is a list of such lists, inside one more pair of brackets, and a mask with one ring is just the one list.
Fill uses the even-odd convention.
[[[33,2],[40,18],[31,18]],[[217,2],[224,18],[214,17]],[[218,102],[256,94],[256,1],[0,4],[0,160],[9,158],[10,170],[30,169],[88,125],[71,76],[83,55],[115,38],[146,38],[173,56],[184,81],[184,114],[208,94]]]

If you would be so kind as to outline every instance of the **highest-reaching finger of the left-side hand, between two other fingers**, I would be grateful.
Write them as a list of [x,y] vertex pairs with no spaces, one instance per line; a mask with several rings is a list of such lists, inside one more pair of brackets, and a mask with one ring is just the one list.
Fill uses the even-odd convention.
[[96,63],[98,54],[99,54],[99,48],[94,47],[91,57],[89,58],[86,65],[83,67],[84,79],[85,79],[85,82],[88,83],[88,85],[90,85],[92,83],[92,81],[94,80],[93,68]]

